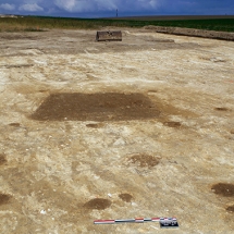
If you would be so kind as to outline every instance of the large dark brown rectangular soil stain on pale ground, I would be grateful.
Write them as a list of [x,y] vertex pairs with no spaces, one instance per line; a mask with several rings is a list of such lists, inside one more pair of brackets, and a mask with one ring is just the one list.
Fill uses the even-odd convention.
[[125,121],[159,116],[141,94],[52,94],[32,114],[38,121]]

